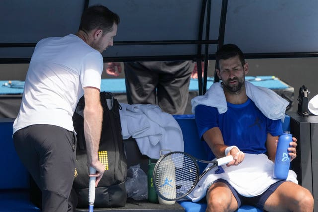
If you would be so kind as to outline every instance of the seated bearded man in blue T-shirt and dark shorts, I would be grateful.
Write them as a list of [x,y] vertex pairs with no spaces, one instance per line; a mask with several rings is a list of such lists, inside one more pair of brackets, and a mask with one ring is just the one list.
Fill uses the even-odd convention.
[[[225,107],[220,109],[210,104],[209,99],[200,102],[200,96],[192,100],[200,137],[207,142],[215,157],[234,157],[225,171],[232,167],[239,169],[244,159],[246,161],[247,155],[266,154],[268,158],[265,156],[265,161],[274,162],[277,140],[283,133],[281,117],[269,118],[267,113],[261,112],[263,110],[259,108],[259,104],[249,97],[250,88],[256,87],[245,82],[248,64],[245,63],[242,51],[236,45],[224,45],[216,53],[216,64],[216,73],[222,83],[214,83],[211,88],[219,86],[221,96],[223,93],[225,96]],[[259,97],[261,101],[265,101],[265,97],[256,98]],[[219,104],[215,98],[213,101]],[[271,105],[276,102],[267,101],[267,110],[271,110]],[[281,114],[284,115],[285,107],[281,108]],[[296,141],[296,138],[293,138],[290,143],[292,147],[288,148],[291,160],[296,157]],[[260,167],[263,164],[251,162],[247,165]],[[251,197],[243,196],[229,182],[218,179],[209,186],[206,193],[207,212],[233,212],[243,204],[254,205],[270,212],[312,212],[314,208],[312,194],[291,181],[277,180],[260,194]],[[247,183],[247,187],[248,185]]]

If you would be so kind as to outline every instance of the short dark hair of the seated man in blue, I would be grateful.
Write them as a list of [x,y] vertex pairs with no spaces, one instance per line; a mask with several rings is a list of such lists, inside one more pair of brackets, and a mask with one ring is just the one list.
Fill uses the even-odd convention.
[[242,50],[240,50],[240,48],[235,45],[235,44],[225,44],[223,45],[216,53],[216,65],[217,65],[217,69],[220,69],[219,67],[219,61],[222,60],[226,60],[232,57],[235,57],[237,55],[239,55],[239,60],[242,63],[242,66],[244,66],[245,64],[245,56],[244,53],[242,52]]

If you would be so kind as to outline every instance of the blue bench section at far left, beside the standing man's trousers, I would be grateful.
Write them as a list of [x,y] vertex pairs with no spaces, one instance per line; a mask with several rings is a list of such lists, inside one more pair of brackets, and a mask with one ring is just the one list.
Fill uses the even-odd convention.
[[0,121],[0,211],[40,212],[30,201],[29,174],[14,149],[13,121],[10,118]]

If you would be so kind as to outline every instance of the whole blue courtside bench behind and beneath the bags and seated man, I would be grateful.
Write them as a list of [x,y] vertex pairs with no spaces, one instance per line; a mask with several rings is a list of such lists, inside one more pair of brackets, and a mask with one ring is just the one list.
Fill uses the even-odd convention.
[[[184,138],[185,152],[200,159],[208,159],[205,151],[205,142],[199,140],[196,123],[193,115],[176,115]],[[284,129],[289,129],[290,117],[287,116],[284,122]],[[40,212],[30,201],[30,178],[29,174],[20,162],[12,141],[12,125],[14,119],[0,119],[0,212]],[[141,155],[136,142],[133,139],[125,140],[128,166],[140,164],[140,167],[147,173],[148,157]],[[205,164],[200,164],[200,169]],[[159,205],[141,201],[127,203],[124,208],[96,209],[95,211],[129,211],[129,212],[205,212],[206,203],[192,203],[191,201],[180,201],[174,205]],[[78,212],[88,211],[77,209]],[[259,209],[244,205],[238,212],[260,212]]]

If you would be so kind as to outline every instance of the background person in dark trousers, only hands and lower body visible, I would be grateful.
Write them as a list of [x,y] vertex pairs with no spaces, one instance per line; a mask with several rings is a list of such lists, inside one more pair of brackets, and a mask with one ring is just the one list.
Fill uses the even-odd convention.
[[[157,104],[166,113],[184,114],[189,97],[190,79],[197,78],[196,63],[125,62],[124,69],[128,104]],[[108,63],[106,72],[119,76],[120,63]]]

